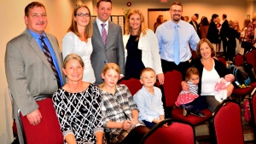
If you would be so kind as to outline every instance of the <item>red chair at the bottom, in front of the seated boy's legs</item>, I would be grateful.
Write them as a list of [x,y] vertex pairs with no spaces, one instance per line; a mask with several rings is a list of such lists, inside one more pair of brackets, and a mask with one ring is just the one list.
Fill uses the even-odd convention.
[[[162,128],[168,124],[167,128]],[[195,144],[195,128],[188,122],[177,119],[166,119],[156,124],[143,137],[142,144]]]

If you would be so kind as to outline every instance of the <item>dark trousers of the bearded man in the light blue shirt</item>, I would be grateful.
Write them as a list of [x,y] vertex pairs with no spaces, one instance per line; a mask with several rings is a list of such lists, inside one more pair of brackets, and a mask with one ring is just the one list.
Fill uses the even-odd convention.
[[172,70],[177,70],[182,73],[183,79],[185,79],[186,71],[189,68],[189,60],[180,62],[176,65],[173,61],[166,61],[161,59],[163,72],[172,72]]

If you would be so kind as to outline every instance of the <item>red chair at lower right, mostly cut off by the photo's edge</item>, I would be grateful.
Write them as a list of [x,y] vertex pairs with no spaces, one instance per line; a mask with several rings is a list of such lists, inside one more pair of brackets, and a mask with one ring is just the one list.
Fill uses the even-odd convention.
[[252,118],[252,124],[253,124],[253,135],[254,135],[254,143],[256,143],[256,88],[254,88],[253,92],[251,93],[249,97],[249,103],[250,103],[250,112],[251,112],[251,118]]

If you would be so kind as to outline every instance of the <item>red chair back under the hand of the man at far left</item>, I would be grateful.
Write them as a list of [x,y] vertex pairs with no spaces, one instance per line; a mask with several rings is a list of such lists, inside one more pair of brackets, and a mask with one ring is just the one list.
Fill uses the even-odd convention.
[[43,101],[37,101],[39,111],[43,118],[38,125],[29,123],[26,116],[20,113],[21,123],[26,135],[26,144],[61,144],[63,143],[63,135],[61,126],[55,113],[55,107],[51,98]]

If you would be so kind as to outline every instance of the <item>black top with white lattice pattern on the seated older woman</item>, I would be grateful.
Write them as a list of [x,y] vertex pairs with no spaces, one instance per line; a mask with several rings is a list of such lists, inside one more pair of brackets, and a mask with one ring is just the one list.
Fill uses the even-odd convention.
[[64,138],[68,134],[73,134],[78,143],[96,143],[95,133],[104,129],[101,95],[95,85],[90,84],[80,93],[58,89],[52,100]]

